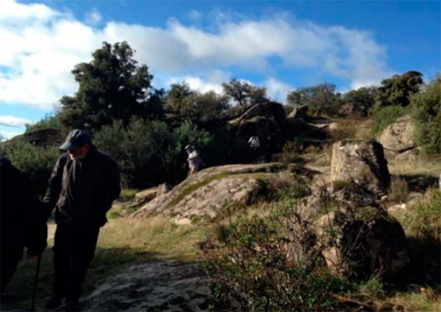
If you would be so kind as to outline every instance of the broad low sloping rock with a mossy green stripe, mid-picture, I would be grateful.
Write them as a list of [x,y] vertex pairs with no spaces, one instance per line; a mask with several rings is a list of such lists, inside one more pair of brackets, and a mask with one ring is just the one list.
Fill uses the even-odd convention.
[[261,198],[266,174],[285,168],[279,163],[207,168],[158,195],[132,216],[160,214],[180,224],[210,220],[222,213],[229,201],[251,204]]

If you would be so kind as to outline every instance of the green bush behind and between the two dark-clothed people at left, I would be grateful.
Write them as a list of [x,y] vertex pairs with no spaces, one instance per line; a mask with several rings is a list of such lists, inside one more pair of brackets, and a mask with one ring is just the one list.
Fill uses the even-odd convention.
[[4,152],[15,167],[27,174],[33,192],[44,195],[52,168],[61,155],[60,150],[55,146],[39,147],[17,141],[6,144]]

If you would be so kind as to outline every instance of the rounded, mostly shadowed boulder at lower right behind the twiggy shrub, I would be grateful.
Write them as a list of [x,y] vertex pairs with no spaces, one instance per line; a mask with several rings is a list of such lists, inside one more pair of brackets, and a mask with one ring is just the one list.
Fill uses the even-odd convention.
[[401,224],[382,208],[354,208],[329,212],[316,222],[327,266],[354,280],[397,276],[409,263]]

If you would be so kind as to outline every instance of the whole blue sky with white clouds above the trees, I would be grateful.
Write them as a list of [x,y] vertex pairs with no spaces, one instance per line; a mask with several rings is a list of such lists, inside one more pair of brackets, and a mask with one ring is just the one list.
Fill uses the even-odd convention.
[[[153,85],[221,92],[232,77],[284,101],[441,68],[440,1],[1,0],[0,133],[10,138],[77,88],[70,71],[102,41],[126,40]],[[7,47],[7,48],[4,48]]]

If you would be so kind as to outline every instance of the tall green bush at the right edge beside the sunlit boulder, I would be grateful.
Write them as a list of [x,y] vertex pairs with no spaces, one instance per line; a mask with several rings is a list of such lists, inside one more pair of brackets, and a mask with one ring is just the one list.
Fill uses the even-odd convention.
[[415,141],[428,156],[441,155],[441,74],[433,79],[422,94],[412,96]]

